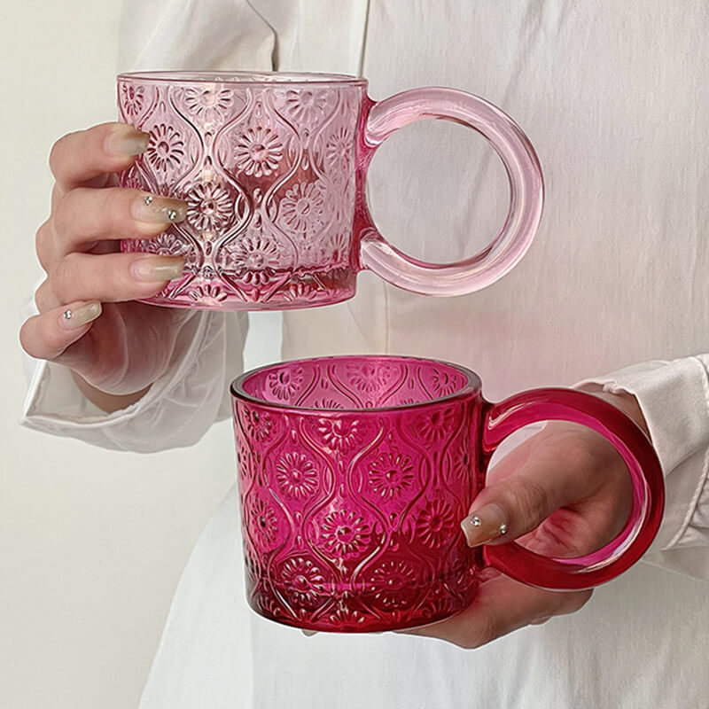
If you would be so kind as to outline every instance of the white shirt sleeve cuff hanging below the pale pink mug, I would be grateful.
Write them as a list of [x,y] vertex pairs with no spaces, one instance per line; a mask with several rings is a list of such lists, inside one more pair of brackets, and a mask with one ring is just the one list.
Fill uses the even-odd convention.
[[243,370],[247,327],[243,312],[195,312],[168,370],[139,401],[110,414],[83,395],[66,367],[25,354],[29,389],[20,424],[116,450],[191,446],[230,416],[229,384]]

